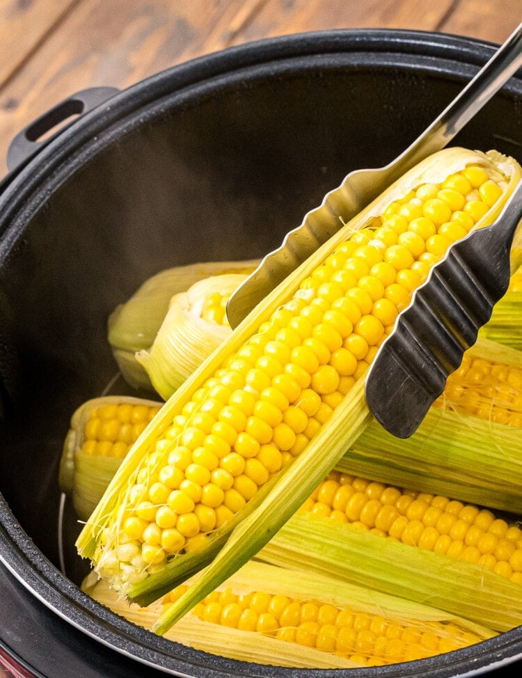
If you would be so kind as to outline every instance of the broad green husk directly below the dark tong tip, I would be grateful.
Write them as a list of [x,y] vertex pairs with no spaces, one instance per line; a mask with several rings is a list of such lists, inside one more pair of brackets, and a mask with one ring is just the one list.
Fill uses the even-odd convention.
[[432,407],[397,438],[373,420],[337,468],[410,490],[522,513],[519,428]]

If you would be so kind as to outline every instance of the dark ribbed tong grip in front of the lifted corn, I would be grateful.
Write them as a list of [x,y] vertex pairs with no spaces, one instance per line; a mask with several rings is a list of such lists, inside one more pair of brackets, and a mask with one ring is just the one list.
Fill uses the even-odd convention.
[[415,432],[507,291],[521,216],[522,182],[495,223],[449,248],[397,317],[365,384],[368,407],[393,435]]

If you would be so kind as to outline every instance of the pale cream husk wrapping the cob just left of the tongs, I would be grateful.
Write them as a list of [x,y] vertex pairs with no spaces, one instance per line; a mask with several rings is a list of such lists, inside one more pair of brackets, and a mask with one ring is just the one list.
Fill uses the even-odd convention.
[[228,324],[201,317],[205,298],[214,292],[228,298],[246,277],[245,273],[212,275],[173,296],[152,346],[136,353],[161,398],[169,398],[232,332]]

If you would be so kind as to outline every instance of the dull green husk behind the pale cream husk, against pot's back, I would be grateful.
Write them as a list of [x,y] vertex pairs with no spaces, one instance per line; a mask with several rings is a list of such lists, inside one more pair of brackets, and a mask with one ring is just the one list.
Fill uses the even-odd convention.
[[258,263],[257,259],[201,262],[168,268],[145,280],[113,310],[107,323],[107,339],[125,381],[136,389],[155,390],[135,355],[152,346],[175,294],[211,275],[250,273]]

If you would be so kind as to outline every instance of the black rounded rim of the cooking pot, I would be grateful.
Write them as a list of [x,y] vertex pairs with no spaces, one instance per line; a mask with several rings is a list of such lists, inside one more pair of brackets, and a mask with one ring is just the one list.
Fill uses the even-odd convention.
[[[81,116],[54,138],[29,163],[8,177],[0,195],[0,266],[13,242],[23,232],[45,199],[95,154],[161,114],[176,97],[193,97],[200,88],[239,81],[258,72],[276,74],[299,64],[338,63],[349,55],[362,60],[376,56],[389,65],[411,65],[455,79],[471,76],[493,54],[493,43],[445,33],[393,29],[313,31],[267,38],[230,47],[150,76],[122,90]],[[379,58],[377,58],[379,57]],[[520,74],[517,74],[520,76]],[[522,92],[516,77],[504,90]],[[518,90],[517,90],[518,87]],[[136,113],[139,112],[139,115]],[[146,116],[145,116],[146,117]],[[138,120],[139,118],[139,120]],[[219,678],[228,675],[328,678],[352,675],[351,670],[292,669],[222,659],[175,644],[136,627],[106,610],[74,586],[35,547],[0,495],[0,560],[41,602],[74,627],[100,643],[142,663],[175,675]],[[425,675],[434,678],[474,675],[522,658],[521,627],[482,643],[436,658],[360,668],[361,678]],[[176,656],[173,656],[173,647]],[[507,656],[506,656],[507,653]],[[511,653],[511,654],[510,654]],[[196,671],[196,673],[194,673]]]

